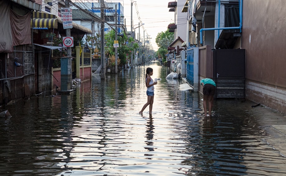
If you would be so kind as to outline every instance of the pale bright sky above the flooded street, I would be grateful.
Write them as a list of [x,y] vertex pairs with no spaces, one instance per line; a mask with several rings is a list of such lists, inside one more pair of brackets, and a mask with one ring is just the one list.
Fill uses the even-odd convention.
[[[124,18],[126,19],[127,31],[131,31],[131,0],[105,0],[106,2],[121,2],[124,9]],[[155,51],[158,46],[155,42],[156,36],[160,32],[165,32],[170,23],[174,23],[174,12],[169,12],[168,2],[172,0],[132,0],[132,21],[133,28],[138,27],[138,23],[144,23],[140,26],[140,36],[143,37],[143,28],[145,29],[145,40],[150,38],[150,45]],[[135,29],[136,39],[139,28]]]

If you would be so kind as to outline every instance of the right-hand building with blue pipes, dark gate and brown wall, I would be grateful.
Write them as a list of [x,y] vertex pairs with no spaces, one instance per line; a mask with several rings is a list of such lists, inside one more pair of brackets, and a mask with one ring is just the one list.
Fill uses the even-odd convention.
[[212,78],[217,97],[245,97],[286,113],[285,5],[279,0],[186,0],[186,64],[198,65],[192,72],[197,78],[189,83]]

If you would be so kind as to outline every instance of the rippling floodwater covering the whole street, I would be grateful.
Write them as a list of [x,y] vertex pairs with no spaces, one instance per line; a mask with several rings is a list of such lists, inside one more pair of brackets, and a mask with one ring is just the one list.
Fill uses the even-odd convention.
[[[154,69],[152,115],[145,70]],[[0,175],[232,176],[286,175],[285,156],[271,147],[243,101],[217,100],[204,118],[202,96],[166,80],[159,62],[93,76],[71,96],[31,97],[0,119]]]

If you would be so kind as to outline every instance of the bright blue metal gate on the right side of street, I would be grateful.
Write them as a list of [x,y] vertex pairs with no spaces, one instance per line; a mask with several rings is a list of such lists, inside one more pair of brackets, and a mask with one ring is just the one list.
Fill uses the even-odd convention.
[[187,48],[187,82],[194,87],[194,47]]

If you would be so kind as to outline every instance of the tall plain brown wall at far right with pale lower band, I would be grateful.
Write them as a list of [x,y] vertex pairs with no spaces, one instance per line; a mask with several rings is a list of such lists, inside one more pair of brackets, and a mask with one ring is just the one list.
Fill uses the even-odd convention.
[[243,1],[245,97],[286,114],[286,1]]

